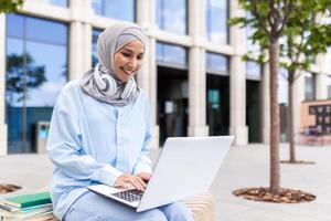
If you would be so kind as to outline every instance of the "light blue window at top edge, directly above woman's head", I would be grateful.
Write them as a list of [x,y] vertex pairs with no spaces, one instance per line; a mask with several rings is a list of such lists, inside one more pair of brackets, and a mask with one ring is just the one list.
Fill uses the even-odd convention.
[[96,14],[124,21],[136,20],[135,0],[92,0]]

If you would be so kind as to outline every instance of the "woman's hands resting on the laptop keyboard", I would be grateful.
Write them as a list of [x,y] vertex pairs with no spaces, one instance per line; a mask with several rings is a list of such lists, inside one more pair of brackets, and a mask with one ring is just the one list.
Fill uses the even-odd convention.
[[122,173],[115,181],[115,187],[127,188],[127,189],[135,188],[138,190],[145,190],[146,183],[139,176]]

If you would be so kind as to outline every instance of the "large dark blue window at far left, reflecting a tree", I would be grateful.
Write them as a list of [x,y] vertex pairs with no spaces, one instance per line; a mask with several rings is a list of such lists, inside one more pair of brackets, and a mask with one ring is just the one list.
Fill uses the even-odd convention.
[[[10,31],[17,21],[20,36]],[[36,125],[50,122],[55,99],[67,81],[67,25],[9,14],[6,48],[9,152],[34,151]]]

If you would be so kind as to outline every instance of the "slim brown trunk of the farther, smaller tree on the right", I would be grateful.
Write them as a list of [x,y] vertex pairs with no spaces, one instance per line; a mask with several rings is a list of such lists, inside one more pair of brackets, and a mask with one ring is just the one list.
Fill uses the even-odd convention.
[[293,125],[293,78],[295,71],[288,72],[288,139],[289,139],[289,161],[296,162],[295,125]]

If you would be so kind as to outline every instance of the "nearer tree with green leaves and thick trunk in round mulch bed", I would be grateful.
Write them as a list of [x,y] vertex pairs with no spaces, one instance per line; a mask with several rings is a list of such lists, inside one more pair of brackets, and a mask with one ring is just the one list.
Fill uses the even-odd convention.
[[[241,6],[252,14],[250,18],[234,18],[233,24],[250,25],[250,39],[261,50],[268,50],[270,64],[270,187],[271,193],[279,193],[279,107],[278,66],[279,39],[289,18],[293,13],[295,0],[239,0]],[[261,61],[263,55],[259,56]]]

